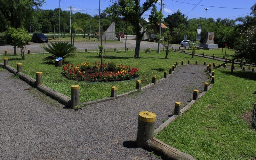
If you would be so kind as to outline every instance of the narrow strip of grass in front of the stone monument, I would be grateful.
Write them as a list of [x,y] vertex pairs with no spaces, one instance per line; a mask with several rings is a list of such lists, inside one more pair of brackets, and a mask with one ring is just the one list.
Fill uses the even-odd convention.
[[[190,52],[192,53],[192,49],[185,49],[186,52]],[[215,55],[215,57],[220,57],[220,58],[223,58],[223,56],[225,56],[225,48],[223,48],[223,53],[221,54],[221,51],[222,49],[216,49],[216,50],[196,50],[196,54],[203,54],[204,52],[204,55],[208,55],[208,56],[212,56],[212,54]],[[227,49],[226,51],[226,58],[227,59],[232,59],[233,55],[235,54],[235,51],[232,50],[232,49]]]

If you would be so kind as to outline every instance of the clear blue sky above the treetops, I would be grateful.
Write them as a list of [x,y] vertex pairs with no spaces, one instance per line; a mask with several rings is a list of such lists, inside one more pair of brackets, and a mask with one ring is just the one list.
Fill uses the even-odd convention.
[[[144,1],[141,0],[141,3]],[[250,8],[255,4],[255,0],[163,0],[163,4],[164,17],[180,9],[182,14],[188,16],[188,19],[205,18],[206,10],[204,8],[208,8],[206,18],[212,17],[216,20],[217,18],[236,19],[239,16],[249,15],[251,12]],[[110,5],[110,0],[101,0],[100,9],[104,10]],[[67,6],[72,6],[74,12],[88,13],[92,16],[99,14],[99,0],[60,1],[60,8],[62,10],[69,10]],[[55,9],[58,7],[59,0],[46,0],[46,4],[44,4],[42,9]],[[157,4],[157,8],[160,10],[160,3]],[[147,19],[149,13],[150,11],[146,12],[142,17]]]

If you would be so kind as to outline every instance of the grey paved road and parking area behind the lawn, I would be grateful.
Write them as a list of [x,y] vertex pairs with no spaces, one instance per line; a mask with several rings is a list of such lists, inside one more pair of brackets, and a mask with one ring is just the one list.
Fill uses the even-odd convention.
[[[37,43],[29,42],[29,44],[26,46],[26,50],[29,49],[31,53],[32,52],[43,52],[43,49],[42,49],[42,47],[40,47],[40,45],[44,45],[44,43],[37,44]],[[85,48],[87,48],[88,51],[97,50],[99,45],[100,45],[100,41],[97,41],[97,42],[76,42],[75,41],[75,47],[77,48],[77,50],[82,50],[82,51],[84,51]],[[140,49],[145,50],[148,47],[150,47],[150,49],[157,49],[157,45],[158,45],[158,43],[155,43],[155,42],[141,41]],[[135,46],[136,46],[135,38],[133,36],[127,37],[126,48],[128,48],[129,50],[134,50]],[[173,45],[173,47],[178,48],[177,45]],[[125,39],[121,38],[121,41],[116,40],[116,42],[107,42],[106,43],[106,50],[114,50],[114,48],[124,50]],[[161,49],[163,49],[163,45],[161,45]],[[12,53],[13,47],[11,45],[3,45],[3,44],[0,45],[0,53],[3,54],[4,50],[7,50],[8,53]],[[20,51],[20,49],[18,48],[17,52],[19,52],[19,51]]]

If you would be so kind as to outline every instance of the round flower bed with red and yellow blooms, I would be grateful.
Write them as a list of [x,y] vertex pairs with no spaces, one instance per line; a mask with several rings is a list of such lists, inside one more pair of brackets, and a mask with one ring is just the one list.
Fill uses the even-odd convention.
[[138,69],[122,64],[116,65],[113,62],[103,63],[103,72],[100,72],[100,62],[94,62],[92,67],[90,63],[83,62],[81,64],[70,64],[63,66],[62,76],[67,79],[77,81],[92,81],[92,82],[111,82],[123,81],[139,77]]

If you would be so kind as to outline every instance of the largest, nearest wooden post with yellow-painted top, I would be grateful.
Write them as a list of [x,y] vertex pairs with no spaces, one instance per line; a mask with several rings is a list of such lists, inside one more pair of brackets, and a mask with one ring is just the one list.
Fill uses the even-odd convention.
[[147,140],[154,137],[156,114],[148,111],[139,113],[138,118],[138,132],[136,145],[137,147],[144,147]]

